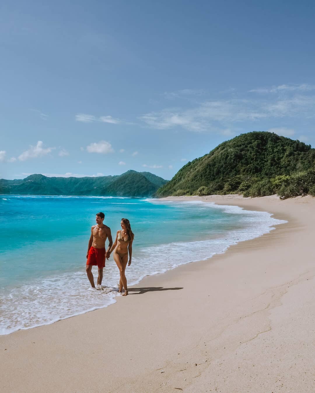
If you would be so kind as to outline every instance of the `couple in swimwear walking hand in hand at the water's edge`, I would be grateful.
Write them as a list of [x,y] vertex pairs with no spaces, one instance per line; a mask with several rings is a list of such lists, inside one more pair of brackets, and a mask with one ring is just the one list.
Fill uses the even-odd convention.
[[[128,266],[131,264],[132,255],[132,242],[133,233],[130,227],[130,222],[127,219],[121,219],[120,227],[116,233],[116,239],[113,244],[113,239],[111,237],[111,229],[103,224],[105,215],[100,212],[96,214],[96,225],[91,228],[91,237],[89,240],[89,246],[87,247],[87,262],[86,262],[86,272],[87,277],[95,288],[94,278],[92,274],[92,266],[98,267],[98,277],[96,288],[101,290],[101,284],[103,279],[103,268],[105,267],[106,259],[109,259],[111,252],[113,251],[114,260],[119,268],[120,280],[119,280],[119,292],[122,292],[124,288],[123,296],[128,295],[127,289],[127,279],[125,275],[125,270],[128,262],[128,251],[129,251],[129,262]],[[107,251],[105,250],[105,241],[108,238],[109,245]]]

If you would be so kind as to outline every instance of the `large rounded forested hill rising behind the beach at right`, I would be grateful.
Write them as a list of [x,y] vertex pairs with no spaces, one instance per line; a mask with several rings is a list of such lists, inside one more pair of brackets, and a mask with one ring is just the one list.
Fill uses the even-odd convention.
[[[292,176],[305,173],[308,187],[300,185],[289,191],[292,196],[301,195],[309,192],[313,178],[315,182],[314,163],[315,149],[310,145],[271,132],[248,132],[188,162],[158,189],[156,196],[233,192],[271,195],[281,187],[293,187]],[[283,197],[291,196],[285,194],[284,188],[282,191]]]

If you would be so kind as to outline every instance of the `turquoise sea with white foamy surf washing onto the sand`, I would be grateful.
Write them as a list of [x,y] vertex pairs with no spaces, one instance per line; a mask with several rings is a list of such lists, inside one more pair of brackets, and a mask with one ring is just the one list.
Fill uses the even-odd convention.
[[135,233],[132,266],[126,270],[130,284],[207,259],[282,222],[266,212],[202,202],[2,195],[0,334],[115,302],[119,271],[112,257],[104,270],[104,291],[91,290],[85,274],[87,244],[98,211],[105,213],[104,223],[113,237],[120,219],[130,220]]

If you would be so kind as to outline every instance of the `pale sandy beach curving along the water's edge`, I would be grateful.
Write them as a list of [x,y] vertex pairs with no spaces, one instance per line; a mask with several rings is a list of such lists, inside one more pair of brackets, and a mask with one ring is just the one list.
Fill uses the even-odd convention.
[[146,277],[105,309],[0,336],[1,391],[315,391],[315,198],[165,199],[288,222]]

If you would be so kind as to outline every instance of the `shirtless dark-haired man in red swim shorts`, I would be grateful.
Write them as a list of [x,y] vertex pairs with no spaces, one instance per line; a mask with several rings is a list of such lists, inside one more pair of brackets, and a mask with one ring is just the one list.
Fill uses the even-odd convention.
[[[111,229],[103,224],[104,213],[100,212],[96,214],[96,225],[91,228],[91,237],[89,240],[89,245],[87,247],[87,262],[86,262],[86,273],[87,277],[95,288],[94,278],[92,274],[92,266],[98,267],[98,277],[97,277],[97,289],[102,289],[102,279],[103,279],[103,268],[105,267],[105,260],[109,258],[109,250],[113,245],[113,239],[111,238]],[[107,251],[105,251],[105,241],[108,237],[109,245]]]

